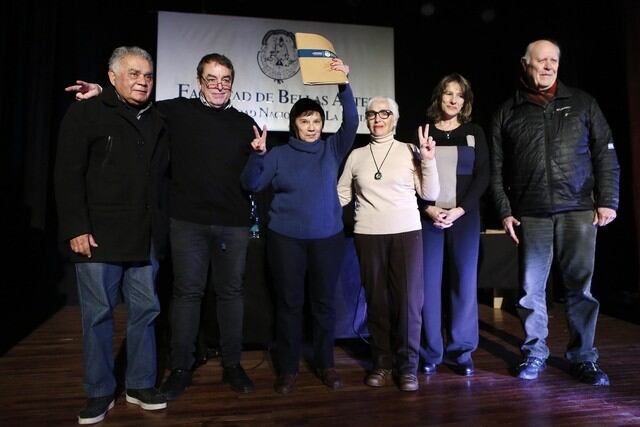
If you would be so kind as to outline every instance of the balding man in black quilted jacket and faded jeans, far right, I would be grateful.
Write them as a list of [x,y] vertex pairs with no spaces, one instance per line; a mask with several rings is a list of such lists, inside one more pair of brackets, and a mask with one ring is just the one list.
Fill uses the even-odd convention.
[[591,278],[597,228],[616,217],[620,167],[598,104],[557,80],[559,63],[555,42],[529,44],[520,88],[493,119],[492,193],[505,231],[521,242],[518,313],[525,337],[517,375],[537,378],[549,357],[545,287],[555,262],[566,293],[565,357],[579,381],[609,385],[596,364],[599,303]]

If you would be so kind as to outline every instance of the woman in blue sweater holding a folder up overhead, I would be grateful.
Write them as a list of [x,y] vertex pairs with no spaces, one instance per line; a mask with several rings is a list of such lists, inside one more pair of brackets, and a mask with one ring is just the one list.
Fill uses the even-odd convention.
[[[340,59],[332,70],[349,72]],[[246,190],[259,191],[271,184],[274,197],[267,233],[269,266],[276,289],[278,393],[293,390],[302,344],[305,278],[313,316],[315,368],[322,382],[342,387],[334,368],[335,289],[342,256],[342,208],[336,182],[342,160],[358,129],[358,112],[348,84],[339,85],[342,125],[321,139],[324,110],[312,99],[296,102],[289,113],[290,137],[286,145],[266,150],[266,131],[251,146],[242,173]]]

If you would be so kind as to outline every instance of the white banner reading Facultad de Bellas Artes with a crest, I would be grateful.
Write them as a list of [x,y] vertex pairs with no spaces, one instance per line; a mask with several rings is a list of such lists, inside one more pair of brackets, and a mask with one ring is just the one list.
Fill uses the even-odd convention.
[[369,99],[395,97],[392,28],[160,12],[156,99],[197,97],[196,67],[200,58],[215,52],[233,62],[233,106],[260,126],[288,131],[291,106],[309,97],[318,100],[326,112],[324,131],[335,132],[342,121],[338,88],[302,84],[296,32],[323,35],[349,65],[360,115],[358,133],[368,133],[364,110]]

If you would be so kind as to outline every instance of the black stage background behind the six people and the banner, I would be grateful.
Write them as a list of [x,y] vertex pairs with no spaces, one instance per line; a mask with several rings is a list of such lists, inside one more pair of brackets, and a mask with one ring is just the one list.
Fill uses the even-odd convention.
[[[56,238],[51,179],[58,125],[74,102],[63,88],[75,79],[107,82],[107,60],[116,46],[139,45],[155,57],[161,10],[393,27],[396,99],[402,116],[398,139],[404,141],[416,139],[433,87],[453,71],[471,81],[474,120],[487,131],[492,112],[513,93],[527,43],[557,40],[562,48],[560,79],[599,101],[622,165],[621,209],[598,236],[593,291],[605,312],[637,319],[634,186],[640,185],[634,184],[632,167],[638,159],[633,142],[640,143],[640,95],[632,70],[638,69],[640,7],[633,0],[348,0],[300,2],[296,7],[246,0],[10,0],[0,8],[0,197],[6,236],[0,354],[75,301],[73,275]],[[195,72],[196,64],[185,66]],[[277,141],[283,135],[274,132],[273,137]],[[485,223],[499,224],[489,206]]]

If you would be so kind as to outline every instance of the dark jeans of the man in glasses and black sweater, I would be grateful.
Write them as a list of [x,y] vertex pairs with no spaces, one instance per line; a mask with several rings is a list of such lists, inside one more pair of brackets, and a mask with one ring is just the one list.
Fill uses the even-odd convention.
[[200,305],[211,267],[223,366],[240,363],[244,318],[243,275],[248,227],[204,225],[171,219],[173,296],[171,369],[191,369],[200,326]]

